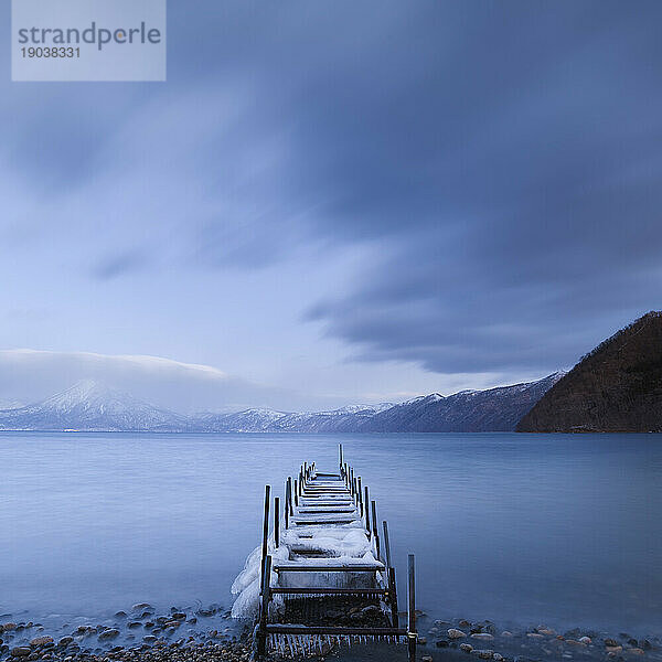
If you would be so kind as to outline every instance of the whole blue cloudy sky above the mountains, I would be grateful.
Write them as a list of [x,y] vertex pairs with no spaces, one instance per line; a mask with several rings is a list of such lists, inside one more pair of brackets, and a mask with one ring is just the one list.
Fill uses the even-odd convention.
[[169,3],[168,82],[9,81],[0,402],[534,378],[661,308],[662,3]]

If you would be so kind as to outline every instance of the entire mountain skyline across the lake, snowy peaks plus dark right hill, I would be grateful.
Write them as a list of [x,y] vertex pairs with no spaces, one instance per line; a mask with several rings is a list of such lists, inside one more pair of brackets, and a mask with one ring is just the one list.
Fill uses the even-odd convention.
[[0,430],[151,433],[662,431],[662,312],[600,343],[569,372],[485,391],[330,412],[184,416],[95,382],[0,409]]

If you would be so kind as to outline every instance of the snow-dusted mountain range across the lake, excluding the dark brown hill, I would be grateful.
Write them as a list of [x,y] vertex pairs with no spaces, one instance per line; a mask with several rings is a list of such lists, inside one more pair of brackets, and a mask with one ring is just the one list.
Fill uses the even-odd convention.
[[183,416],[95,382],[81,382],[41,403],[0,410],[3,430],[154,433],[431,433],[508,431],[564,373],[488,391],[437,393],[380,405],[314,413],[246,409]]

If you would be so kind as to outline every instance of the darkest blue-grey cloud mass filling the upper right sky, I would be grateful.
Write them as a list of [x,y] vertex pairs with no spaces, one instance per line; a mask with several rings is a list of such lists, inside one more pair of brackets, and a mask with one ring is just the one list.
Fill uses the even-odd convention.
[[366,360],[567,365],[660,307],[662,10],[416,7],[313,85],[307,180],[337,193],[320,232],[384,252],[310,317]]

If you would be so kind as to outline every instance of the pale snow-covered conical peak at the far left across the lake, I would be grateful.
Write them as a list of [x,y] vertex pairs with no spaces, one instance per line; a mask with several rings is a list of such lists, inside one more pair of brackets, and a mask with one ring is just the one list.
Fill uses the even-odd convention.
[[180,431],[186,425],[184,416],[92,381],[35,405],[0,410],[0,429],[12,430]]

